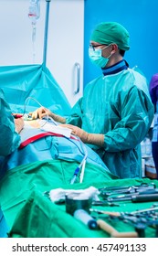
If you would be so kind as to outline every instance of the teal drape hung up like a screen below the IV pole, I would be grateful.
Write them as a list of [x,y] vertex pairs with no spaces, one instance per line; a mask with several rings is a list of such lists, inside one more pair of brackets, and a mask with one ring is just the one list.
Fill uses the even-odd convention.
[[[24,112],[28,96],[58,114],[68,115],[70,112],[64,92],[43,65],[0,67],[0,88],[5,91],[6,100],[13,112]],[[38,107],[36,101],[26,102],[26,112]]]

